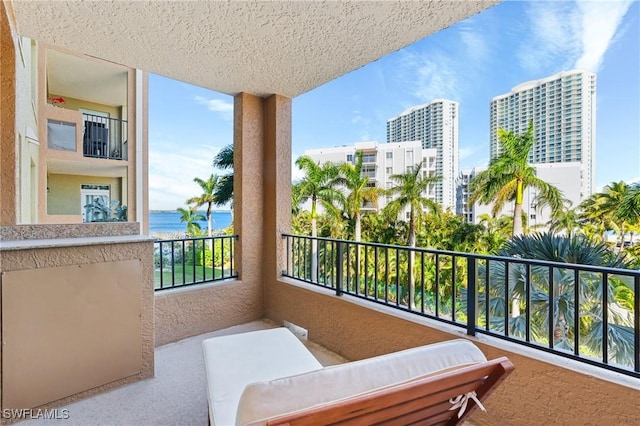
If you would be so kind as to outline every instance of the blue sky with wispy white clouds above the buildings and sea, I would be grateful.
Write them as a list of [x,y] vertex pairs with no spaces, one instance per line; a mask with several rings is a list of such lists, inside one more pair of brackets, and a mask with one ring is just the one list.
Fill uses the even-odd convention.
[[[585,30],[586,29],[586,30]],[[489,101],[562,70],[597,73],[596,183],[640,177],[640,3],[505,1],[293,99],[294,159],[305,149],[386,142],[407,107],[460,102],[459,167],[489,158]],[[175,210],[218,171],[233,98],[149,76],[149,201]],[[296,170],[294,168],[294,177]]]

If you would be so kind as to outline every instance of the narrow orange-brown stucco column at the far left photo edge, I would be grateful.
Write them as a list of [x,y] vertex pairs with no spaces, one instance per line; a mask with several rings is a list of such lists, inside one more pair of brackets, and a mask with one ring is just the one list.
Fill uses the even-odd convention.
[[16,52],[0,6],[0,225],[16,224]]

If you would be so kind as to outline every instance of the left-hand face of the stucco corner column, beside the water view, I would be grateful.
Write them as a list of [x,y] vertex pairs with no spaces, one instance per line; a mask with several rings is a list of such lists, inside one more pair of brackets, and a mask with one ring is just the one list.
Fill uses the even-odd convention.
[[233,225],[239,236],[234,259],[239,279],[259,287],[267,250],[263,241],[264,103],[260,97],[240,93],[233,107]]

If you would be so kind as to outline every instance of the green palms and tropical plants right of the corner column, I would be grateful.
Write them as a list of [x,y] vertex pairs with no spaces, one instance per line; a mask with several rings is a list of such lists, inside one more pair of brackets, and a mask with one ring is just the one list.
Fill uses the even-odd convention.
[[[438,205],[424,198],[423,194],[427,192],[425,188],[435,180],[423,177],[420,164],[405,174],[394,176],[394,185],[376,194],[388,199],[385,208],[375,208],[369,201],[373,208],[361,209],[357,218],[354,212],[367,201],[350,196],[345,179],[340,178],[341,171],[356,169],[356,156],[354,164],[347,166],[320,164],[311,159],[298,160],[299,165],[305,164],[304,169],[301,167],[305,172],[301,182],[307,185],[308,181],[315,182],[312,186],[315,191],[305,194],[299,183],[294,185],[293,233],[355,241],[358,230],[358,239],[362,241],[391,245],[389,248],[346,245],[342,266],[345,288],[405,309],[438,313],[440,317],[449,316],[455,321],[465,320],[469,271],[462,253],[514,258],[508,269],[505,269],[504,261],[478,262],[480,299],[484,298],[484,292],[488,292],[490,300],[487,315],[482,314],[478,320],[480,326],[504,332],[506,323],[511,336],[524,338],[527,318],[530,318],[529,332],[533,342],[599,357],[604,353],[603,329],[606,324],[609,360],[632,365],[635,295],[633,282],[628,277],[614,274],[605,279],[602,273],[589,271],[576,274],[570,266],[566,269],[542,265],[525,267],[524,263],[518,263],[518,259],[621,269],[640,267],[640,245],[616,246],[604,238],[607,232],[612,231],[624,230],[627,236],[640,231],[638,185],[623,188],[620,184],[612,183],[602,192],[594,194],[591,201],[569,208],[557,189],[540,181],[527,167],[520,167],[523,164],[526,166],[526,159],[518,163],[519,166],[516,164],[518,167],[507,167],[504,159],[510,158],[516,163],[514,152],[524,150],[520,145],[528,146],[529,136],[518,138],[503,133],[502,139],[507,146],[512,144],[513,149],[503,151],[502,160],[493,162],[495,167],[489,168],[492,172],[485,175],[491,179],[481,178],[474,189],[497,188],[494,199],[515,204],[522,188],[536,186],[543,195],[538,201],[546,202],[553,211],[547,224],[549,232],[539,233],[528,229],[527,215],[522,214],[522,209],[519,215],[514,216],[481,216],[478,224],[466,223],[461,216],[442,211]],[[509,170],[516,177],[507,179]],[[361,176],[361,182],[366,179]],[[518,179],[521,181],[518,182]],[[362,188],[364,184],[352,187]],[[321,191],[319,188],[322,188]],[[342,196],[336,195],[336,191]],[[311,212],[301,208],[302,202],[310,200],[314,192],[316,207],[312,204]],[[324,196],[318,196],[320,192]],[[317,205],[322,205],[323,209]],[[404,216],[405,212],[407,216]],[[357,219],[360,221],[359,227],[356,226]],[[519,225],[516,223],[518,221]],[[411,247],[446,253],[435,255],[430,251],[412,250]],[[302,269],[298,272],[301,271],[307,279],[332,283],[336,279],[335,261],[327,259],[335,256],[335,250],[334,245],[320,241],[313,255],[305,255],[307,258],[300,263],[299,268]],[[319,260],[313,263],[314,258]],[[527,268],[530,268],[529,296],[526,293]],[[487,272],[488,275],[485,275]],[[485,276],[491,277],[488,282],[485,282]],[[508,283],[506,288],[505,282]],[[575,303],[576,292],[580,295],[578,304]],[[603,292],[608,295],[605,299],[606,309],[603,306]],[[483,309],[480,311],[485,312]],[[553,318],[550,321],[552,311]],[[577,329],[576,313],[579,318]],[[575,346],[576,342],[578,347]]]

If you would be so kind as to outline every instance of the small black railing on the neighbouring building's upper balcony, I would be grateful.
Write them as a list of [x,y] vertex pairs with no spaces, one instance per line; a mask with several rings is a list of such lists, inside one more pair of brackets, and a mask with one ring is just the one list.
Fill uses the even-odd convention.
[[127,159],[127,122],[116,118],[82,114],[85,157]]

